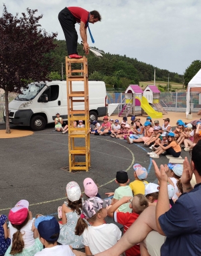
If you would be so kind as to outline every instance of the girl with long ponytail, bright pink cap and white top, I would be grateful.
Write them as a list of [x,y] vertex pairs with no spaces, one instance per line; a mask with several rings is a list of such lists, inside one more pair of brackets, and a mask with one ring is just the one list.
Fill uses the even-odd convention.
[[5,256],[34,256],[42,251],[43,245],[38,238],[38,230],[34,227],[34,220],[29,212],[29,202],[20,200],[14,208],[9,211],[9,233],[11,245]]

